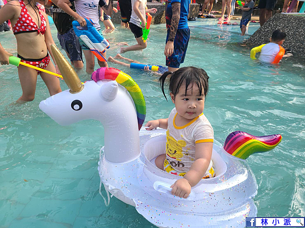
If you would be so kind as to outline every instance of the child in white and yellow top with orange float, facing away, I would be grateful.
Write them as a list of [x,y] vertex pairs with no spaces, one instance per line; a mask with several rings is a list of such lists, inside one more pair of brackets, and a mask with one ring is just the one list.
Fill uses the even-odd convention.
[[251,59],[256,59],[255,54],[260,52],[259,60],[266,63],[279,63],[285,54],[285,49],[281,47],[286,38],[286,33],[282,29],[273,31],[270,43],[263,44],[251,50]]

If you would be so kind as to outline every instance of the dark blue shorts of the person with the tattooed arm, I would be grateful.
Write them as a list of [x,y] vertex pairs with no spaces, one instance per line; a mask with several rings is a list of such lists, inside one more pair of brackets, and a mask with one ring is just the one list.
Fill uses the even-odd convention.
[[[168,40],[170,29],[167,29],[166,43]],[[173,68],[179,68],[180,64],[184,62],[186,57],[189,40],[190,28],[177,29],[176,37],[174,40],[174,53],[166,57],[166,65]]]

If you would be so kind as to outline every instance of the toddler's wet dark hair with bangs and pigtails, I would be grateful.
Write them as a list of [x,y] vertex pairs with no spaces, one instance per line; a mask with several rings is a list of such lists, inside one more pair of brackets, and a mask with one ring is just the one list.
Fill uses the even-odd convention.
[[181,86],[186,87],[186,95],[187,95],[189,85],[192,86],[194,84],[198,86],[200,96],[202,95],[203,92],[204,97],[206,97],[208,92],[209,77],[204,69],[197,68],[194,66],[187,66],[187,67],[182,67],[175,72],[167,71],[163,73],[159,79],[159,82],[163,95],[165,96],[166,100],[167,98],[164,93],[164,82],[168,75],[171,75],[169,79],[169,92],[172,93],[174,97],[178,94]]

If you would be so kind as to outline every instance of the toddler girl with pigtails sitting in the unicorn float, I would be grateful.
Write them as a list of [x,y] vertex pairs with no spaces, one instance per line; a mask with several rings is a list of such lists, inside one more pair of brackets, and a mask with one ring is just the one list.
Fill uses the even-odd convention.
[[183,177],[171,186],[172,194],[187,198],[191,187],[202,178],[215,176],[211,161],[214,131],[202,113],[208,75],[203,69],[192,66],[165,72],[159,79],[164,96],[164,82],[168,75],[171,76],[170,97],[175,107],[167,119],[148,121],[145,126],[147,130],[167,129],[166,154],[156,158],[156,166]]

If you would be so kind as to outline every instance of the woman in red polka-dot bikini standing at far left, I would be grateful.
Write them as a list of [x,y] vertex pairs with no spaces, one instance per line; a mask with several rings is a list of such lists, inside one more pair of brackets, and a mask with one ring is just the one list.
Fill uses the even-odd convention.
[[[0,10],[0,24],[11,20],[17,40],[18,57],[22,62],[56,72],[48,54],[49,51],[53,58],[51,45],[55,45],[49,22],[47,15],[36,6],[37,3],[44,5],[44,1],[39,0],[10,1]],[[0,44],[1,64],[9,64],[10,56],[12,54],[5,51]],[[54,58],[53,61],[56,64]],[[57,73],[60,73],[59,70]],[[20,65],[18,75],[22,96],[17,100],[18,103],[34,100],[38,74],[41,75],[51,96],[62,91],[58,78],[50,76],[46,72]]]

